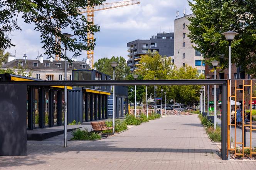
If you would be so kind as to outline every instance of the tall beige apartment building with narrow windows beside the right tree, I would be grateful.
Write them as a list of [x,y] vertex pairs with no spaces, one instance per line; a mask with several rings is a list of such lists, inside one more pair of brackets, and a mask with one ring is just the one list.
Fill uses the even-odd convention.
[[192,46],[195,44],[190,42],[188,17],[193,17],[193,14],[186,15],[181,18],[174,20],[174,64],[179,67],[184,67],[186,64],[194,68],[197,68],[198,75],[205,75],[205,62],[202,54],[195,50]]

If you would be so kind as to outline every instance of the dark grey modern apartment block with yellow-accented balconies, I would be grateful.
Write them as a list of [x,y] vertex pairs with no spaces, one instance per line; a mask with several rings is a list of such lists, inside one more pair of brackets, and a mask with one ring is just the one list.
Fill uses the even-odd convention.
[[138,39],[127,43],[128,57],[127,65],[130,67],[130,71],[138,70],[139,61],[141,55],[145,55],[148,50],[151,52],[159,52],[162,56],[174,55],[174,33],[158,33],[152,35],[150,40]]

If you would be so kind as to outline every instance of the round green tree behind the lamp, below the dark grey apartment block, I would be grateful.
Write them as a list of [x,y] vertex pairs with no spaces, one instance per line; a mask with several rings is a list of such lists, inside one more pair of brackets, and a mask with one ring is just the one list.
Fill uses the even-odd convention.
[[99,72],[103,72],[105,74],[111,75],[113,78],[113,68],[111,67],[111,62],[117,62],[118,65],[115,68],[115,80],[124,80],[130,73],[130,67],[127,66],[126,60],[123,57],[111,57],[109,58],[101,58],[98,62],[94,63],[94,67]]

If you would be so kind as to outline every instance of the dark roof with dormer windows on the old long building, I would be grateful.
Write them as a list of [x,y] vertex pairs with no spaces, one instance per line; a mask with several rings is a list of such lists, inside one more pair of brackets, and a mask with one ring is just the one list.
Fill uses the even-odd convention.
[[[30,69],[44,69],[44,70],[53,70],[53,69],[56,69],[56,70],[61,70],[63,69],[64,70],[64,65],[65,65],[65,61],[56,61],[56,60],[53,60],[52,62],[49,61],[49,60],[43,60],[43,63],[40,63],[39,60],[26,60],[26,63],[25,63],[25,60],[24,59],[15,59],[15,60],[12,60],[8,63],[5,63],[4,65],[2,65],[2,68],[14,68],[14,67],[17,67],[19,66],[19,62],[23,62],[23,67],[28,67]],[[33,63],[37,63],[37,67],[34,67],[34,64]],[[45,67],[45,64],[46,63],[49,63],[50,67]],[[60,67],[57,67],[57,65]],[[72,64],[72,68],[68,66],[68,64]],[[86,68],[83,68],[82,65],[86,65]],[[71,63],[67,62],[67,70],[74,70],[74,69],[91,69],[91,67],[89,65],[86,64],[86,62],[81,62],[81,61],[72,61]]]

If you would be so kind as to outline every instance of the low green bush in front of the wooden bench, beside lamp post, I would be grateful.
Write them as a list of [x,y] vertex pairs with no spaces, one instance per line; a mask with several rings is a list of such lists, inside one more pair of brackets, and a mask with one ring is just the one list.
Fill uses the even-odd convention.
[[98,133],[88,132],[87,128],[84,128],[84,130],[77,129],[77,130],[72,131],[72,136],[73,137],[71,138],[71,140],[95,140],[95,139],[101,139],[101,136]]

